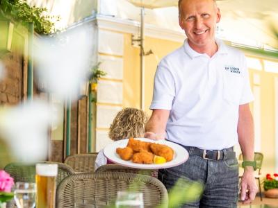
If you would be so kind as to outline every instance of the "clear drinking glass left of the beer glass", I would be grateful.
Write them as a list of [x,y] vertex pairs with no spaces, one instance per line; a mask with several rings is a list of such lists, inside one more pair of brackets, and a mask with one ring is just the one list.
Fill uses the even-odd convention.
[[15,204],[17,205],[17,208],[35,207],[35,183],[16,182],[14,193]]

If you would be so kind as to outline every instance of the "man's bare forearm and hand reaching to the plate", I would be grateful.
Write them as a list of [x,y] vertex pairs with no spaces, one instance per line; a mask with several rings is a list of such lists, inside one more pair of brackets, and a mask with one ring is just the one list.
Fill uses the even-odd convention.
[[166,123],[170,110],[155,109],[146,124],[145,137],[149,139],[165,139]]

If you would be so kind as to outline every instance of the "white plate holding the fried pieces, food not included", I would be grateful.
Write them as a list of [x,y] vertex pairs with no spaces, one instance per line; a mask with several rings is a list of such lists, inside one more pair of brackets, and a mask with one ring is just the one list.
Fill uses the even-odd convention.
[[186,160],[188,159],[188,151],[182,146],[180,146],[179,144],[173,143],[171,141],[165,141],[165,140],[152,140],[147,138],[135,138],[135,139],[139,139],[140,141],[148,141],[148,142],[154,142],[157,144],[165,144],[167,146],[170,146],[174,150],[174,158],[170,162],[165,162],[163,164],[137,164],[131,161],[123,160],[120,158],[119,155],[117,155],[116,149],[126,147],[127,143],[129,142],[129,139],[122,139],[119,141],[114,141],[112,144],[108,144],[108,146],[104,148],[104,155],[113,163],[117,163],[122,166],[127,166],[131,168],[140,168],[140,169],[170,168],[170,167],[183,164],[183,162],[186,162]]

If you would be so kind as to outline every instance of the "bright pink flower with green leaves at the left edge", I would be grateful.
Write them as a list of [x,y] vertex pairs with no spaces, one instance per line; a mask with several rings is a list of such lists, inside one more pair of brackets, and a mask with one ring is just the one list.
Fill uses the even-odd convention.
[[0,208],[6,208],[6,202],[13,198],[13,193],[10,192],[13,187],[13,177],[8,173],[0,171]]

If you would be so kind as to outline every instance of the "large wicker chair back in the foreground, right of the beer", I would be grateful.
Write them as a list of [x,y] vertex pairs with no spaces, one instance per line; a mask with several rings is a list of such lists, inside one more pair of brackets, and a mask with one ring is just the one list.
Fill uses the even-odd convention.
[[156,207],[168,196],[164,185],[149,175],[134,173],[76,173],[60,183],[56,195],[56,208],[113,206],[117,191],[143,193],[144,207]]

